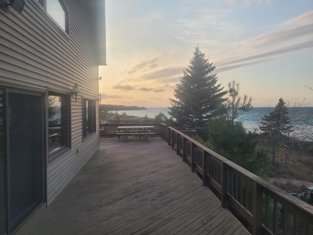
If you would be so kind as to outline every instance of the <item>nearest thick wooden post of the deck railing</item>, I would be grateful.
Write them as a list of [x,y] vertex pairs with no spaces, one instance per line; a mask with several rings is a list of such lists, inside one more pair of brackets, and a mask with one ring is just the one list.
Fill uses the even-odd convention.
[[261,186],[253,181],[252,189],[252,234],[261,235],[262,234],[262,190]]

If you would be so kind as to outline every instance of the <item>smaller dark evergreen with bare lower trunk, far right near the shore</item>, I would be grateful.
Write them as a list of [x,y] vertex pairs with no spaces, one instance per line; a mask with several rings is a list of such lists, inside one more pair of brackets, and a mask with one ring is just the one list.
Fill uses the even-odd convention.
[[291,121],[289,111],[285,101],[280,98],[275,109],[269,113],[269,116],[264,116],[261,121],[260,130],[268,137],[271,145],[272,164],[275,168],[276,147],[280,138],[290,132]]

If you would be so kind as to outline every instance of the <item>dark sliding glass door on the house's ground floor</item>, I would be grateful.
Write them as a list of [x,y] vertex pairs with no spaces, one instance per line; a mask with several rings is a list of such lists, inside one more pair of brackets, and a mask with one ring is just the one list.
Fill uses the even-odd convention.
[[43,94],[0,89],[0,235],[44,203]]

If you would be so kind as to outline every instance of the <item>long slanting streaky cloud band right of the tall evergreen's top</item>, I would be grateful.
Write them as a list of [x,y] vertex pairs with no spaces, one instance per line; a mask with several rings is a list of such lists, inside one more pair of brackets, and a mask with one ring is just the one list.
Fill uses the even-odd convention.
[[[282,25],[287,25],[289,28],[281,29]],[[238,55],[217,61],[217,71],[263,63],[287,53],[313,48],[313,12],[279,24],[276,28],[277,31],[233,44],[232,49],[237,48],[235,54]]]

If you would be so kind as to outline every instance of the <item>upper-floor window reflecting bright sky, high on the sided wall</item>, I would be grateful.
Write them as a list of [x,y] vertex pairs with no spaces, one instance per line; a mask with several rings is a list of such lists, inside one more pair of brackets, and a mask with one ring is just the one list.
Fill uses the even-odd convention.
[[63,0],[38,0],[38,2],[68,34],[68,12]]

